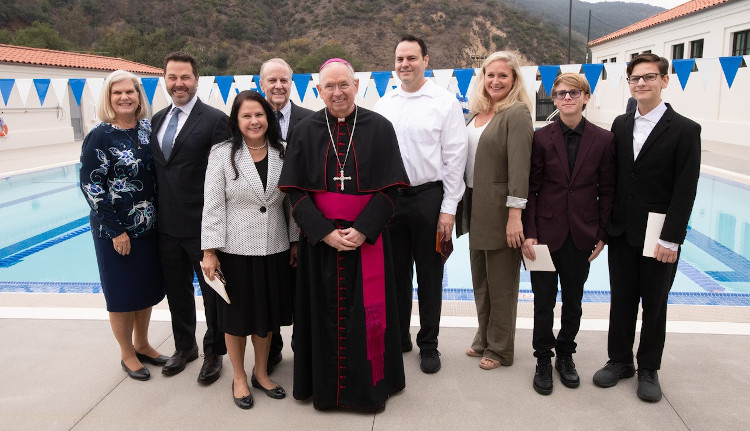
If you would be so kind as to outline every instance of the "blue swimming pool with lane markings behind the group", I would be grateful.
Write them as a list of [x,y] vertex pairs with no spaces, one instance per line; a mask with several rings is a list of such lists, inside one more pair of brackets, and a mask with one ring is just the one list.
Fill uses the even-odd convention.
[[[77,165],[0,179],[0,292],[98,293],[88,212]],[[444,297],[473,300],[467,237],[454,249]],[[701,175],[678,269],[671,302],[750,305],[750,187]],[[609,301],[606,248],[584,290],[584,301]],[[530,300],[525,271],[521,293]]]

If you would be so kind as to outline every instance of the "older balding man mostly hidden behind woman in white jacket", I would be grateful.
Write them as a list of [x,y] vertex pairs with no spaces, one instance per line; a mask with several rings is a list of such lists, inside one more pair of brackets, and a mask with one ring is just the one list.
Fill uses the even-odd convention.
[[[260,87],[266,95],[266,100],[273,107],[276,119],[279,120],[281,138],[286,141],[294,126],[314,111],[297,106],[289,100],[292,91],[292,68],[281,58],[272,58],[260,66]],[[296,272],[294,269],[292,271]],[[292,285],[294,286],[294,283]],[[284,340],[281,334],[274,333],[271,338],[271,349],[268,351],[268,374],[271,374],[281,362],[283,347]]]

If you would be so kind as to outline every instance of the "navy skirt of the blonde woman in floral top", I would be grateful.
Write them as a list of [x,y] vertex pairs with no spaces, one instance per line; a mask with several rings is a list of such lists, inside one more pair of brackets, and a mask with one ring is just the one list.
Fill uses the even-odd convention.
[[111,239],[93,236],[107,311],[143,310],[164,299],[158,235],[130,238],[127,256],[115,251]]

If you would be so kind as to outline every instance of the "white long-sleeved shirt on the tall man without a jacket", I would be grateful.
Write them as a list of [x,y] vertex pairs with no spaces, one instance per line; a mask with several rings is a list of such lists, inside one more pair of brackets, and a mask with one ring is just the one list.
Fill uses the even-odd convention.
[[468,134],[458,99],[428,79],[413,93],[401,87],[387,93],[374,110],[396,129],[411,185],[442,181],[440,212],[456,214],[464,193],[468,152]]

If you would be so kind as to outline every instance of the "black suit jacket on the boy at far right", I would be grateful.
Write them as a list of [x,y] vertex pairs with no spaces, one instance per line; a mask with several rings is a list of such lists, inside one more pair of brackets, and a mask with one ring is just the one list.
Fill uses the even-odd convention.
[[617,186],[607,232],[626,235],[628,244],[643,247],[649,212],[666,214],[660,238],[682,244],[698,187],[701,126],[667,111],[633,160],[634,113],[615,118]]

